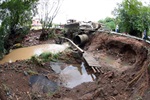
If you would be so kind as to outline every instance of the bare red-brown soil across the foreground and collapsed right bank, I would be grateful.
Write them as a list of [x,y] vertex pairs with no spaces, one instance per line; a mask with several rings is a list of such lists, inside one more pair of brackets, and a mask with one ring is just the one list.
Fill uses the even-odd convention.
[[[23,41],[23,46],[54,43],[54,40],[39,42],[39,34],[40,32],[31,32]],[[35,93],[29,85],[29,77],[35,73],[45,75],[54,82],[57,81],[58,75],[47,64],[44,65],[45,67],[40,67],[28,60],[5,63],[0,65],[0,99],[148,100],[150,98],[149,48],[149,44],[144,41],[114,34],[96,33],[84,49],[99,61],[103,73],[94,73],[96,76],[94,82],[82,83],[72,89],[59,87],[51,95]],[[109,61],[105,61],[108,58],[110,64]],[[124,63],[125,65],[122,65]],[[91,68],[87,70],[92,71]]]

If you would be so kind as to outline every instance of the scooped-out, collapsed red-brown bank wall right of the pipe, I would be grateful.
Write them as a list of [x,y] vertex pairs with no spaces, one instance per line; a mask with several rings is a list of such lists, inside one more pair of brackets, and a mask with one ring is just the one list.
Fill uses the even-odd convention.
[[148,54],[143,41],[107,33],[97,33],[86,49],[95,55],[106,53],[134,66],[142,65]]

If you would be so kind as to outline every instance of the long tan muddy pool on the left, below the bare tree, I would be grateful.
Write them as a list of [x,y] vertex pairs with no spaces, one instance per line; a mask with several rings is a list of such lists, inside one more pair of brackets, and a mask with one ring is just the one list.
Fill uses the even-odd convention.
[[6,55],[1,61],[0,64],[5,62],[15,62],[16,60],[29,59],[33,55],[40,55],[42,52],[52,52],[58,53],[65,50],[69,45],[63,44],[43,44],[31,47],[25,47],[13,50],[8,55]]

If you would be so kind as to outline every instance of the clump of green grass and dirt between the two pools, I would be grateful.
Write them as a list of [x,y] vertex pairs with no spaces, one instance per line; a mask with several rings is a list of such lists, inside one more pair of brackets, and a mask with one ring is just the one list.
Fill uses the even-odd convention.
[[77,63],[76,60],[81,60],[81,58],[70,50],[65,50],[63,52],[59,52],[57,54],[53,54],[51,52],[44,52],[39,56],[34,55],[31,57],[30,61],[35,63],[36,65],[43,66],[46,62],[57,62],[62,61],[65,63]]

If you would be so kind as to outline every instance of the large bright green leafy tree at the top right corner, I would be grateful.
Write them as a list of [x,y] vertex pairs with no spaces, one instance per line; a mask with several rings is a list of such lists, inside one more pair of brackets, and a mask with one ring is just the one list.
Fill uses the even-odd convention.
[[141,33],[149,30],[150,6],[143,6],[138,0],[124,0],[113,11],[121,32],[141,37]]

